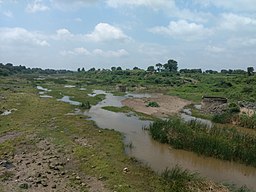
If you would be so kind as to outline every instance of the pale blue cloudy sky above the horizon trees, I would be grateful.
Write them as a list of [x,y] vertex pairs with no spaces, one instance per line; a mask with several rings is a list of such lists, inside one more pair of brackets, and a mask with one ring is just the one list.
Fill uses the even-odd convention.
[[256,0],[0,0],[0,63],[256,68]]

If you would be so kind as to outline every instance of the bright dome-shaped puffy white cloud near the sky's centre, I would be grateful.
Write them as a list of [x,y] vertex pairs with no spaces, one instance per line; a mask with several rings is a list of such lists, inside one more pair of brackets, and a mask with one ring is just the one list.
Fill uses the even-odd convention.
[[124,32],[108,23],[99,23],[95,26],[94,31],[85,35],[86,39],[91,41],[123,41],[129,39]]

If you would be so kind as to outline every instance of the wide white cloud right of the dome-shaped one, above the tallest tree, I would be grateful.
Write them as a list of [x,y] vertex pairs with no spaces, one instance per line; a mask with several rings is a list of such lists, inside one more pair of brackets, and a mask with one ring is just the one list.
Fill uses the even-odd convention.
[[169,35],[173,38],[182,38],[187,41],[202,39],[212,33],[210,29],[203,25],[189,23],[186,20],[171,21],[168,26],[153,27],[149,31]]

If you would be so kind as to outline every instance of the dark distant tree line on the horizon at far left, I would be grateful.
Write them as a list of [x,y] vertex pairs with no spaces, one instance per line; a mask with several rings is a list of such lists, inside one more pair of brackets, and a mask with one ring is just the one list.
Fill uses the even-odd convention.
[[9,76],[15,74],[64,74],[70,73],[69,70],[54,70],[54,69],[41,69],[41,68],[26,68],[25,66],[14,66],[12,63],[0,63],[0,76]]

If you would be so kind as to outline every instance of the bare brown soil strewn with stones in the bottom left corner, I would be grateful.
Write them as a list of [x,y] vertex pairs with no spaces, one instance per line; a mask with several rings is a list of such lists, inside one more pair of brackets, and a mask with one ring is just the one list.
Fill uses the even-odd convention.
[[[8,136],[7,134],[6,138]],[[0,159],[0,184],[3,187],[1,190],[108,191],[102,181],[77,171],[72,152],[62,151],[46,139],[31,135],[29,137],[36,144],[24,141],[17,146],[15,154],[6,154]]]

